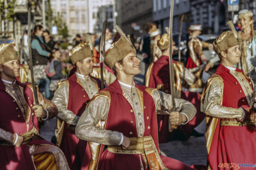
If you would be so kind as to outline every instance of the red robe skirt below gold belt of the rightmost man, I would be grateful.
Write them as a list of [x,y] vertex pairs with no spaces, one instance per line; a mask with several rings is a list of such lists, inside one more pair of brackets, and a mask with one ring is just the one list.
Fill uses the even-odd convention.
[[[256,133],[253,125],[247,126],[221,126],[217,147],[217,165],[211,165],[212,170],[236,170],[235,167],[229,167],[225,163],[235,163],[234,166],[241,163],[254,165],[256,163]],[[211,162],[210,162],[211,163]],[[247,165],[248,165],[247,164]],[[245,167],[241,169],[254,169]]]

